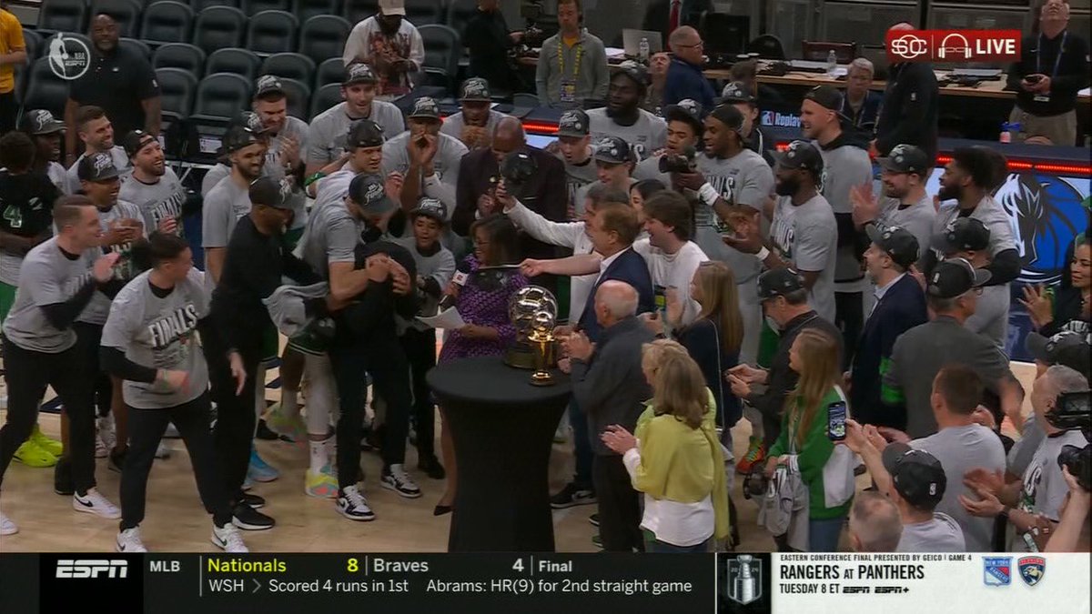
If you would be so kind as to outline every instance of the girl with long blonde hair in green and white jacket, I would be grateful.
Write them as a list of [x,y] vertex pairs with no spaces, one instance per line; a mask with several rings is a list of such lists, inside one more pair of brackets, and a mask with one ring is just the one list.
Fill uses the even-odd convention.
[[[770,447],[765,475],[772,476],[779,464],[800,474],[808,487],[808,552],[834,552],[853,504],[851,496],[841,505],[828,507],[823,480],[823,470],[834,453],[827,433],[828,410],[846,402],[839,387],[842,376],[838,341],[816,329],[802,331],[788,351],[788,366],[800,378],[785,399],[781,435]],[[778,541],[784,551],[785,541]]]

